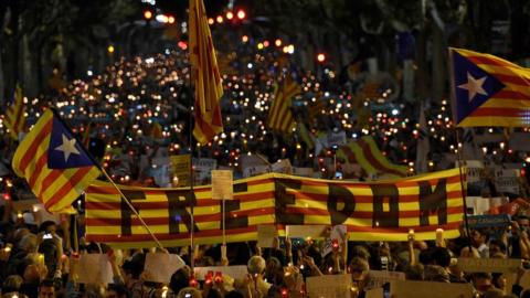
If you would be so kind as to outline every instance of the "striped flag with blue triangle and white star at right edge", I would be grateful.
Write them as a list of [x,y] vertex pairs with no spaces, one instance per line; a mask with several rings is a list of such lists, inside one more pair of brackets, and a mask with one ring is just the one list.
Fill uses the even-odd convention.
[[456,126],[530,125],[530,70],[489,54],[449,49]]

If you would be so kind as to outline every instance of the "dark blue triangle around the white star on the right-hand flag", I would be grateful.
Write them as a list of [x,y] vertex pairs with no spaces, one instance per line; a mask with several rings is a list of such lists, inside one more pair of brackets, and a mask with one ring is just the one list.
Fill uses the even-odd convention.
[[[453,51],[453,70],[457,124],[506,87],[497,77],[481,70],[456,51]],[[473,98],[469,98],[470,92],[464,87],[464,85],[468,84],[469,76],[476,81],[485,78],[481,83],[481,88],[486,94],[476,93]]]

